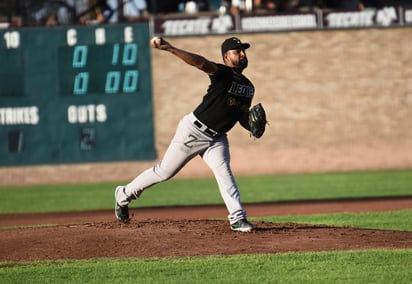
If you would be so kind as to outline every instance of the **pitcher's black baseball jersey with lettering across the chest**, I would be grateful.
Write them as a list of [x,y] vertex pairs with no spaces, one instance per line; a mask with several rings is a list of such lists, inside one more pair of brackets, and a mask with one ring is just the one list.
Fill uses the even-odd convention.
[[223,64],[209,75],[210,85],[195,116],[211,129],[224,134],[249,111],[255,94],[253,84],[235,69]]

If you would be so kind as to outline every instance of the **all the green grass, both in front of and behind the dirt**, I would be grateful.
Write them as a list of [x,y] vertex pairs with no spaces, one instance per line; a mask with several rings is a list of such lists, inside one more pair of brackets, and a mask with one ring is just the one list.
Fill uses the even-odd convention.
[[[411,196],[412,171],[238,179],[244,202]],[[117,183],[1,187],[2,213],[112,209]],[[221,204],[213,179],[171,180],[138,206]],[[9,205],[11,204],[11,205]],[[412,208],[393,212],[272,216],[295,222],[412,231]],[[0,230],[1,233],[1,230]],[[154,259],[0,262],[1,283],[411,283],[412,249]]]

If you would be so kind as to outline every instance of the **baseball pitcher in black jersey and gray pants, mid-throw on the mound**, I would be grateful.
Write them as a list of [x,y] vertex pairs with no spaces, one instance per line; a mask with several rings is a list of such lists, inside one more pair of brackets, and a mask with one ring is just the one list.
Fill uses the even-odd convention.
[[[128,204],[133,199],[139,198],[142,192],[152,185],[172,178],[187,162],[199,155],[216,178],[229,212],[231,229],[240,232],[252,231],[253,226],[247,221],[238,186],[230,168],[229,144],[226,137],[226,133],[237,122],[248,131],[255,127],[250,124],[256,120],[256,114],[251,115],[249,112],[255,88],[242,74],[248,66],[246,49],[250,44],[242,43],[236,37],[226,39],[221,45],[224,64],[179,49],[164,38],[155,37],[151,39],[150,45],[152,48],[169,52],[205,72],[210,78],[210,85],[200,104],[179,122],[161,161],[142,172],[129,184],[116,187],[116,218],[121,222],[128,222]],[[263,131],[259,131],[259,137]],[[251,134],[254,135],[253,132]]]

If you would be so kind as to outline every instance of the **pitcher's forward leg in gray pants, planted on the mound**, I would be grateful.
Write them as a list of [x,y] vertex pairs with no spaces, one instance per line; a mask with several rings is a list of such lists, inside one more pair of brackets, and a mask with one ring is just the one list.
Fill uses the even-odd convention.
[[240,202],[239,189],[230,168],[230,153],[226,136],[221,137],[208,148],[202,157],[215,175],[220,194],[229,211],[229,222],[234,224],[246,219],[246,212]]

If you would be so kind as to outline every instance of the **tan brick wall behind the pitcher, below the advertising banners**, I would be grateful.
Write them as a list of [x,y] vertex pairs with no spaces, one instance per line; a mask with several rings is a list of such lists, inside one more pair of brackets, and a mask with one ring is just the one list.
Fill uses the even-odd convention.
[[[412,29],[242,35],[252,47],[245,74],[271,126],[262,147],[307,147],[412,139]],[[171,39],[220,61],[224,37]],[[195,107],[208,78],[154,51],[160,145]],[[235,131],[238,133],[239,131]],[[250,144],[247,135],[237,144]]]

